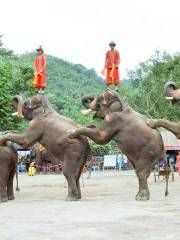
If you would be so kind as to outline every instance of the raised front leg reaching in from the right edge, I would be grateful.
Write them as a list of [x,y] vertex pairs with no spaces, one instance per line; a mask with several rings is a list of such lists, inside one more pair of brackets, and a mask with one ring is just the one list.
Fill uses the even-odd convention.
[[171,122],[164,119],[148,119],[147,124],[151,128],[163,127],[174,133],[180,139],[180,122]]

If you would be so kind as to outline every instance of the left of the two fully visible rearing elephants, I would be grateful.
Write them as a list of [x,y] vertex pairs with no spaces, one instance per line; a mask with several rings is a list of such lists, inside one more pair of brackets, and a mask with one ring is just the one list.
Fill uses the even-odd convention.
[[29,126],[23,132],[5,134],[0,138],[0,145],[12,141],[28,148],[39,142],[54,156],[57,164],[62,164],[68,182],[67,200],[81,199],[79,178],[87,159],[91,159],[91,150],[86,137],[68,138],[67,130],[77,128],[77,124],[59,115],[43,95],[37,94],[25,101],[15,96],[13,106],[17,109],[13,115],[29,120]]

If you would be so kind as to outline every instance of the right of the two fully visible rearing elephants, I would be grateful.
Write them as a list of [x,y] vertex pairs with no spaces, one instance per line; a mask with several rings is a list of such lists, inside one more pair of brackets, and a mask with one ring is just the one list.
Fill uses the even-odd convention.
[[[149,200],[147,179],[152,164],[158,162],[162,156],[165,157],[160,132],[150,128],[146,117],[128,106],[115,91],[108,89],[97,97],[84,96],[82,104],[88,109],[85,111],[95,111],[94,118],[102,119],[102,125],[70,129],[69,137],[84,135],[97,144],[107,144],[114,140],[133,165],[138,177],[139,191],[135,199]],[[165,195],[168,195],[168,177]]]

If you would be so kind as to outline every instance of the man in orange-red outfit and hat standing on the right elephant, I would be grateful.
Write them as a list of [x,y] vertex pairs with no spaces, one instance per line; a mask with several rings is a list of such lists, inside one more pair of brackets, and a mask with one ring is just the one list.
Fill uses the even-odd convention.
[[115,50],[116,43],[111,41],[109,43],[110,50],[107,51],[105,57],[105,66],[107,69],[106,73],[106,85],[111,86],[115,85],[116,90],[118,91],[118,86],[120,85],[119,78],[119,64],[120,64],[120,55],[117,50]]

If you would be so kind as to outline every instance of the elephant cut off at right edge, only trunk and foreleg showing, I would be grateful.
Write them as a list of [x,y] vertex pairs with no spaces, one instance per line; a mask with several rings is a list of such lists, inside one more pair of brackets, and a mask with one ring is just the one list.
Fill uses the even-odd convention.
[[[166,98],[173,104],[180,106],[180,88],[178,89],[174,82],[167,82],[164,89]],[[180,122],[171,122],[166,119],[148,119],[147,124],[152,128],[166,128],[180,139]]]

